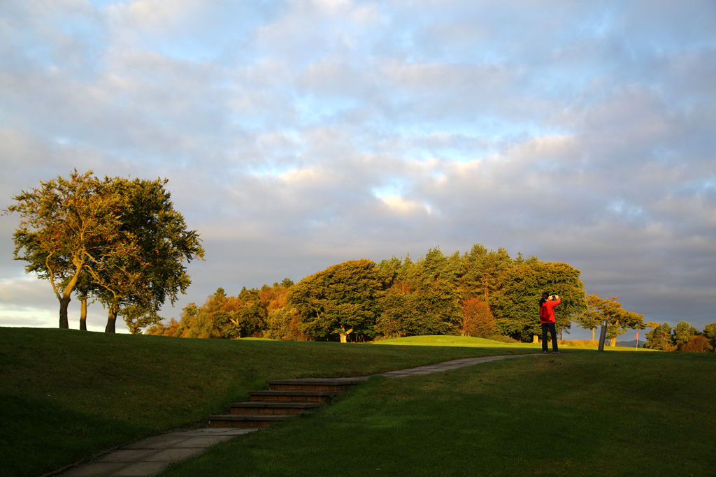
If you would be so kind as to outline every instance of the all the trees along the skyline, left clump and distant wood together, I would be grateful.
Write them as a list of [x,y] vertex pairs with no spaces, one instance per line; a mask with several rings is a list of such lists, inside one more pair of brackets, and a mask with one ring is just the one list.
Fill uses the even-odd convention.
[[[561,296],[557,328],[572,323],[594,331],[609,324],[611,345],[627,329],[643,329],[643,315],[621,307],[617,297],[586,295],[580,271],[537,257],[511,257],[502,247],[475,244],[446,256],[436,247],[420,260],[392,257],[378,263],[349,260],[298,283],[288,278],[236,297],[219,288],[180,321],[161,323],[165,300],[175,303],[190,285],[185,263],[203,259],[199,234],[175,210],[168,181],[105,177],[74,170],[21,191],[5,213],[19,213],[14,258],[26,272],[48,280],[59,300],[59,326],[69,328],[72,295],[107,309],[105,331],[122,315],[132,333],[189,338],[263,336],[279,340],[365,341],[381,337],[462,334],[533,341],[540,333],[537,303],[543,291]],[[647,347],[662,350],[716,348],[714,329],[698,333],[688,323],[673,330],[648,324]]]

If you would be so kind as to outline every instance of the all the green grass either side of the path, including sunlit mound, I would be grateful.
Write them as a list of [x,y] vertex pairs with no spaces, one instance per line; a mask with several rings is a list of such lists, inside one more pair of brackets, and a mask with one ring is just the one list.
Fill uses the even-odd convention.
[[[342,345],[0,328],[2,475],[205,426],[266,379],[538,350],[442,336]],[[168,475],[714,475],[715,383],[713,353],[591,350],[372,378]]]

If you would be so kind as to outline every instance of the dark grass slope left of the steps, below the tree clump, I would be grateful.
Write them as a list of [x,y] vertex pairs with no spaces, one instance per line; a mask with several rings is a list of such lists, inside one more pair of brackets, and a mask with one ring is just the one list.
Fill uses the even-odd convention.
[[266,379],[378,373],[510,348],[190,340],[0,328],[3,476],[37,476],[205,416]]

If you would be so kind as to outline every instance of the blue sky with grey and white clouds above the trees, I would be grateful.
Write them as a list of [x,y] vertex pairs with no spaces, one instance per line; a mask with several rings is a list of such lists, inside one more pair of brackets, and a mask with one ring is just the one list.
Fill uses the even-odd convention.
[[[74,168],[166,177],[206,249],[166,318],[481,243],[702,329],[715,124],[713,1],[0,0],[0,208]],[[0,216],[0,325],[57,326],[12,260],[18,222]]]

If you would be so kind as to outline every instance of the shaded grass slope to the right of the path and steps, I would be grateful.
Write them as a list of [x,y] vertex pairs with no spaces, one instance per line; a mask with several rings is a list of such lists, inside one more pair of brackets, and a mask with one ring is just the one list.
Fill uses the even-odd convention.
[[716,475],[714,395],[713,353],[538,354],[372,378],[163,475]]

